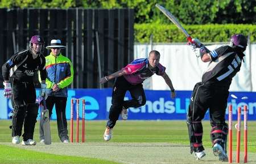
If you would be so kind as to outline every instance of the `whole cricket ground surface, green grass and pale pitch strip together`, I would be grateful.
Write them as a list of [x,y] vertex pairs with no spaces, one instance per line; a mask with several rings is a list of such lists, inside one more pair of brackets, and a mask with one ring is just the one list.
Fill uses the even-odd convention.
[[[35,146],[11,144],[10,123],[11,120],[0,120],[0,163],[224,163],[219,162],[218,157],[212,153],[210,123],[207,120],[203,122],[203,144],[207,155],[199,161],[189,153],[185,120],[121,120],[114,127],[113,138],[107,142],[103,139],[106,122],[86,120],[86,142],[81,143],[80,130],[80,143],[67,144],[60,142],[56,121],[53,120],[52,144],[39,143],[39,123],[36,123],[34,140],[38,144]],[[255,126],[256,122],[248,122],[248,163],[256,163]],[[74,134],[76,141],[76,131]],[[22,140],[22,137],[20,139]],[[236,130],[233,128],[234,163],[235,160]],[[243,129],[240,162],[243,163]]]

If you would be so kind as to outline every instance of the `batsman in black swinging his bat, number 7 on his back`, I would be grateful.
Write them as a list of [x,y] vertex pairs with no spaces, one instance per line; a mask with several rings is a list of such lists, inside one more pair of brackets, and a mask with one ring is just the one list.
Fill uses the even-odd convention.
[[225,123],[225,111],[229,87],[232,78],[240,71],[247,39],[242,34],[234,34],[229,46],[221,46],[213,51],[205,48],[199,40],[193,41],[195,43],[190,45],[197,56],[200,56],[203,62],[210,63],[203,74],[202,81],[197,83],[193,89],[188,108],[187,124],[191,153],[195,152],[196,159],[205,156],[201,120],[209,109],[213,153],[220,161],[228,161],[226,155],[228,125]]

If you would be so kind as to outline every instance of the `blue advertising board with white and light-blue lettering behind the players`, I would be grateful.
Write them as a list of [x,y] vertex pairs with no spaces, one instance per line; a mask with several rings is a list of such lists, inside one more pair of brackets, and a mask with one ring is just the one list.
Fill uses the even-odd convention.
[[[38,94],[38,90],[36,93]],[[192,91],[176,91],[176,98],[170,97],[169,90],[145,90],[146,105],[129,109],[129,120],[185,120]],[[233,106],[233,119],[237,118],[237,107],[248,106],[248,119],[256,120],[256,93],[255,92],[230,92],[237,98],[229,97],[228,105]],[[67,119],[71,116],[71,98],[81,98],[85,102],[85,119],[105,120],[108,119],[109,108],[112,100],[112,89],[69,89],[66,107]],[[248,97],[242,100],[242,97]],[[127,92],[125,100],[129,100]],[[3,89],[0,89],[1,112],[0,119],[9,119],[11,115],[11,101],[3,97]],[[80,103],[80,118],[82,113]],[[226,110],[226,116],[228,110]],[[243,114],[243,113],[242,113]],[[76,102],[74,103],[74,118],[76,118]],[[56,119],[55,109],[51,119]],[[204,119],[209,119],[209,114]]]

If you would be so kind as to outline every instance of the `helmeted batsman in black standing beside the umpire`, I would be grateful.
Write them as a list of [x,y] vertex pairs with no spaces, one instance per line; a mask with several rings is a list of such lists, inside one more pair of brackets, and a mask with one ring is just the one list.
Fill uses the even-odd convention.
[[45,94],[46,59],[42,51],[44,41],[41,36],[32,36],[30,48],[14,54],[2,66],[3,85],[5,97],[11,98],[13,105],[12,136],[13,144],[19,144],[24,122],[22,145],[36,145],[33,140],[36,118],[38,116],[38,103],[36,103],[36,90],[33,77],[39,70],[42,79],[41,95]]

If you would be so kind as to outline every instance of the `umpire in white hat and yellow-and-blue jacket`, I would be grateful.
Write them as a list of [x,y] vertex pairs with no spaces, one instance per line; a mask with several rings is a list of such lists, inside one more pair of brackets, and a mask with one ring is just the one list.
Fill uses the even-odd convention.
[[[51,117],[55,105],[59,138],[61,142],[69,143],[66,119],[67,87],[73,82],[74,71],[71,61],[61,54],[61,49],[65,48],[66,46],[61,45],[60,40],[51,40],[51,45],[46,47],[51,49],[51,53],[46,57],[48,95],[46,106]],[[40,126],[40,143],[44,143],[42,126]]]

